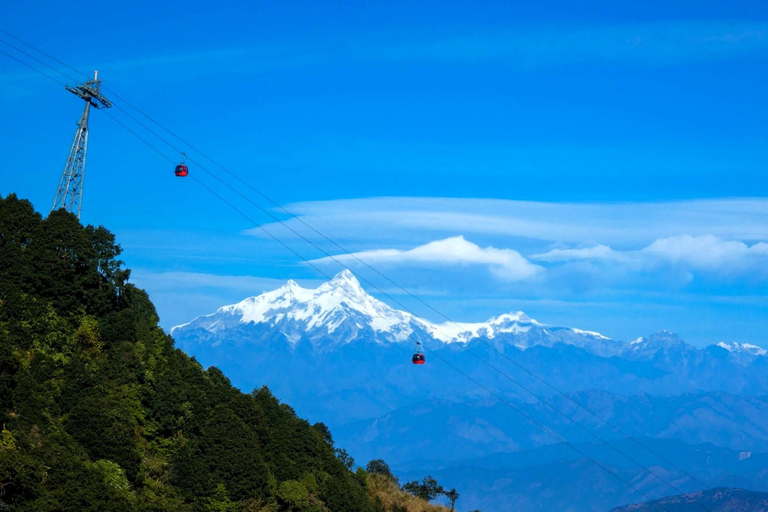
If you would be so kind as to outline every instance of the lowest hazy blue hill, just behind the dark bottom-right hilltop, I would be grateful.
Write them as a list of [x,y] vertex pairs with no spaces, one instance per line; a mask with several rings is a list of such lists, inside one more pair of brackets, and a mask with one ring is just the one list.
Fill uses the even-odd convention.
[[[682,492],[708,487],[746,487],[768,491],[768,454],[751,454],[707,445],[686,445],[677,440],[641,439],[643,445],[661,454],[670,463],[650,454],[631,440],[614,440],[611,445],[650,468]],[[665,482],[649,475],[638,464],[601,443],[581,443],[576,448],[598,460],[612,473],[632,482],[650,498],[678,494]],[[682,471],[680,471],[682,470]],[[512,512],[526,510],[605,511],[612,507],[645,500],[641,494],[619,482],[603,469],[574,451],[557,444],[519,453],[495,454],[444,466],[419,465],[405,478],[427,472],[441,482],[462,482],[462,504],[469,509]]]

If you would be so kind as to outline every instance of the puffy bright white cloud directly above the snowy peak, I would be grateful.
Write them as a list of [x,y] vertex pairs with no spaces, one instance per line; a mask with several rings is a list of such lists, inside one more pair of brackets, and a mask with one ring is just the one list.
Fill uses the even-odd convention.
[[467,241],[463,236],[436,240],[408,250],[375,249],[352,254],[341,254],[333,258],[325,257],[313,263],[341,262],[357,264],[362,260],[367,264],[386,264],[391,266],[406,265],[481,265],[486,266],[499,279],[521,281],[533,277],[543,269],[529,262],[519,252],[512,249],[480,247]]

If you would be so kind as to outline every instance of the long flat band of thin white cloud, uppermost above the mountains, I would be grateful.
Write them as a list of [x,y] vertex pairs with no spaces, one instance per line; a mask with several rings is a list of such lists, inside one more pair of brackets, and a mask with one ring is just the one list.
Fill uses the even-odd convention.
[[[334,240],[363,247],[394,241],[423,244],[462,234],[496,245],[509,238],[583,246],[634,249],[659,238],[713,235],[728,240],[768,241],[768,199],[710,199],[634,203],[547,203],[498,199],[380,197],[294,203],[286,209]],[[315,240],[297,219],[287,225]],[[267,224],[278,236],[295,235]],[[258,229],[255,236],[264,236]],[[518,243],[518,242],[516,242]],[[519,245],[517,245],[519,246]]]

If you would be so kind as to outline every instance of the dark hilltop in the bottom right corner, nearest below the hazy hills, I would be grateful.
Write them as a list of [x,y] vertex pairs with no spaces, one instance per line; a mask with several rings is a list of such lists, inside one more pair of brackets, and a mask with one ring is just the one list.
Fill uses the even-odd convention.
[[768,493],[744,489],[709,489],[618,507],[612,512],[768,512]]

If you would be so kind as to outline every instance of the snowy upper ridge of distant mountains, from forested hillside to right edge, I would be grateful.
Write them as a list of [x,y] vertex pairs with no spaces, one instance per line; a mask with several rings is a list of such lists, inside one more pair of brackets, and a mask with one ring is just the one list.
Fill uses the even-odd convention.
[[170,334],[183,335],[201,329],[208,333],[203,335],[204,338],[213,337],[214,343],[220,343],[221,340],[216,340],[220,333],[241,326],[259,325],[279,332],[292,344],[308,339],[316,347],[328,342],[344,345],[360,339],[383,343],[419,341],[433,346],[484,340],[511,344],[522,350],[565,343],[602,357],[618,356],[638,361],[652,360],[660,353],[672,360],[702,350],[716,353],[722,350],[721,355],[730,355],[743,366],[768,355],[768,351],[761,347],[738,342],[719,342],[696,348],[666,330],[624,342],[595,331],[545,324],[522,311],[502,313],[485,322],[438,324],[394,309],[371,296],[349,270],[339,272],[316,289],[303,288],[289,280],[276,290],[222,306],[214,313],[177,325],[171,328]]

